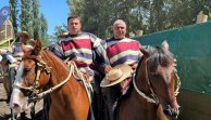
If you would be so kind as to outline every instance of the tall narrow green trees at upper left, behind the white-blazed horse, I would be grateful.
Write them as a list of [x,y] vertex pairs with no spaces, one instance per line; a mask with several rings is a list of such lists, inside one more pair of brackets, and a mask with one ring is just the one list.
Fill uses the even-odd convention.
[[20,0],[20,5],[18,0],[10,0],[10,8],[14,32],[16,34],[17,29],[28,31],[34,39],[41,39],[47,45],[48,23],[45,15],[39,13],[39,0]]

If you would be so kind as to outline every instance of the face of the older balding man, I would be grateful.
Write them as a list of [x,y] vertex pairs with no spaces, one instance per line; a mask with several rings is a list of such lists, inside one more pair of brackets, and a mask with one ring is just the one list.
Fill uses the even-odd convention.
[[126,35],[126,26],[125,24],[116,24],[113,26],[114,37],[117,39],[123,39]]

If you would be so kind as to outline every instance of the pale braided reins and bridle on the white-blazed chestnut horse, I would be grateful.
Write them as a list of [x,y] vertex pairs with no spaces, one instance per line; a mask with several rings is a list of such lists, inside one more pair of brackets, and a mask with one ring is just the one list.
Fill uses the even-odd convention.
[[59,89],[60,86],[62,86],[63,84],[65,84],[70,78],[73,76],[74,78],[76,79],[79,79],[83,81],[83,84],[84,84],[84,88],[85,88],[85,91],[87,93],[87,96],[88,96],[88,99],[89,99],[89,105],[90,105],[90,112],[91,112],[91,120],[95,120],[95,117],[94,117],[94,110],[92,110],[92,107],[91,107],[91,95],[90,93],[94,92],[92,88],[91,88],[91,84],[90,82],[87,82],[88,81],[88,78],[86,78],[78,69],[77,69],[77,66],[75,65],[74,62],[69,62],[69,66],[70,66],[70,72],[69,72],[69,76],[66,77],[66,79],[62,80],[62,82],[60,82],[59,84],[41,92],[41,93],[38,93],[40,90],[37,90],[36,88],[39,86],[39,78],[40,78],[40,74],[41,74],[41,70],[45,69],[48,74],[50,74],[50,70],[51,70],[51,67],[49,67],[47,65],[47,63],[42,62],[42,61],[38,61],[37,63],[38,65],[38,70],[37,70],[37,75],[36,75],[36,80],[34,82],[34,84],[32,86],[22,86],[22,85],[18,85],[18,84],[14,84],[14,86],[16,88],[20,88],[20,89],[23,89],[23,90],[28,90],[28,91],[32,91],[33,94],[29,97],[29,102],[34,102],[34,101],[37,101],[37,99],[41,99],[44,98],[45,95],[49,94],[49,93],[52,93],[54,90]]

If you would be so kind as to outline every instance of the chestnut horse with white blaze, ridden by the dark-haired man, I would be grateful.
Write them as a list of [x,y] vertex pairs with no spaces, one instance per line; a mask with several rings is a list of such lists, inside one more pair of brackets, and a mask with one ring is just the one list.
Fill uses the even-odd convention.
[[[15,112],[27,109],[29,102],[50,93],[49,120],[87,120],[89,99],[84,85],[74,77],[67,65],[38,40],[35,49],[27,51],[17,69],[10,106]],[[49,88],[41,92],[42,88]],[[34,96],[29,99],[26,96]]]

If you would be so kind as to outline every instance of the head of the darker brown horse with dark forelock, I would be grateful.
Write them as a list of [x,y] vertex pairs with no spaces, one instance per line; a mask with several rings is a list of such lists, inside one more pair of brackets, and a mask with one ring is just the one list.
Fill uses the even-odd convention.
[[[148,102],[161,105],[170,120],[177,119],[179,105],[176,94],[179,88],[175,61],[166,41],[162,46],[140,48],[144,54],[136,71],[138,89]],[[176,88],[177,83],[177,88]],[[137,91],[139,91],[136,89]],[[175,94],[176,91],[176,94]]]

